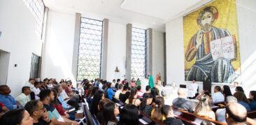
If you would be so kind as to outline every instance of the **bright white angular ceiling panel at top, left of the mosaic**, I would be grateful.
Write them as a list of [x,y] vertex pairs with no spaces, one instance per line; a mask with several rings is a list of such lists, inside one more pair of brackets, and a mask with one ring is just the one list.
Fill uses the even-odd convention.
[[162,20],[169,20],[171,17],[199,1],[200,0],[125,0],[122,3],[122,8],[157,17]]

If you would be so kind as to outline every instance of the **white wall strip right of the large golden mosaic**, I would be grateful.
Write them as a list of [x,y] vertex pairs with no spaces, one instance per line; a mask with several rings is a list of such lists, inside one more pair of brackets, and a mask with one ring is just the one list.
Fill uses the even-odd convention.
[[236,0],[243,89],[256,90],[256,1]]

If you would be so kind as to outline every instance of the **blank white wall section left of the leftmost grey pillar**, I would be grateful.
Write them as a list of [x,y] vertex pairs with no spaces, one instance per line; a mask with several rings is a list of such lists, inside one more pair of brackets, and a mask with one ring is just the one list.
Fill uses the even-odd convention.
[[74,31],[75,14],[49,10],[42,78],[56,78],[57,81],[71,78],[72,81],[76,81],[71,72]]

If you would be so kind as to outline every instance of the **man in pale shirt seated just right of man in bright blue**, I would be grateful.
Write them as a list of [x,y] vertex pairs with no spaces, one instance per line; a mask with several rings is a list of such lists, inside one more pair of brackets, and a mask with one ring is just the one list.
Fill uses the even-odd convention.
[[24,107],[27,102],[30,101],[29,94],[31,93],[30,87],[22,87],[22,94],[15,98],[15,101],[19,101],[20,105]]

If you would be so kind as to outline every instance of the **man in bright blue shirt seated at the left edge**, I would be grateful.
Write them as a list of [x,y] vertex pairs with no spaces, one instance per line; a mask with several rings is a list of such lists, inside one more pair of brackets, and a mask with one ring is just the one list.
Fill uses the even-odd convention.
[[10,88],[7,85],[0,86],[0,101],[8,110],[16,109],[20,103],[10,96]]

